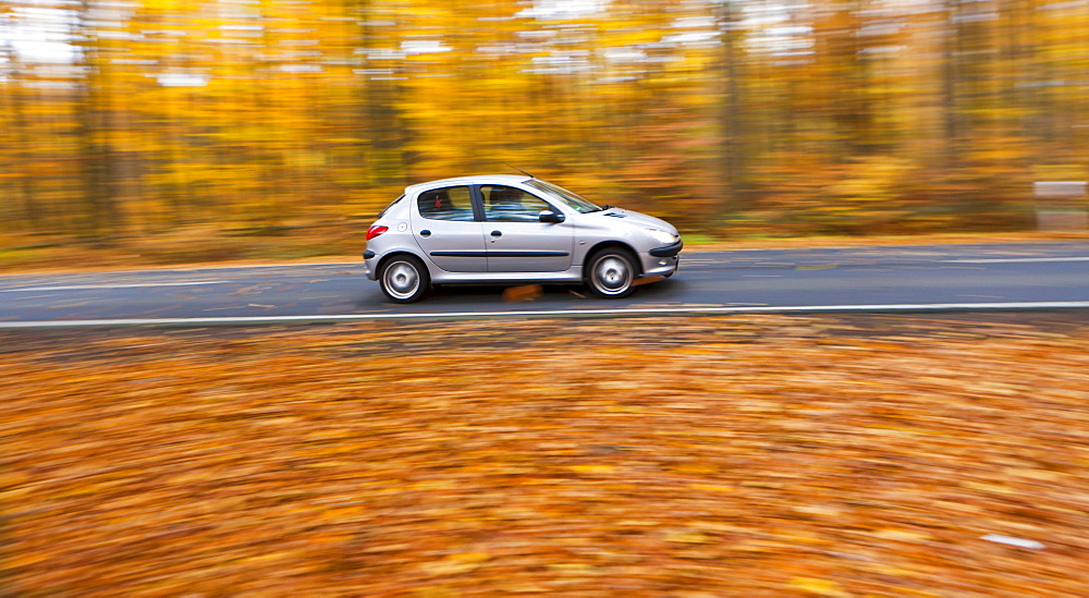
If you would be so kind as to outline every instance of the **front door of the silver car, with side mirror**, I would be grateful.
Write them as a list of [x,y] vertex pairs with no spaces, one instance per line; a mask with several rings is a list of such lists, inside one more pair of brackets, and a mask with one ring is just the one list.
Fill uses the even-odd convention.
[[489,272],[561,272],[571,268],[571,224],[541,222],[560,210],[536,195],[506,185],[480,185]]

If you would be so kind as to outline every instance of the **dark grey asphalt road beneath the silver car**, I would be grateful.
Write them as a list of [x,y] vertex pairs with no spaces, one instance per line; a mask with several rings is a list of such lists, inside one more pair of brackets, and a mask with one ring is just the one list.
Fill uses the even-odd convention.
[[1000,308],[1089,308],[1089,242],[685,251],[675,277],[617,301],[477,286],[394,305],[362,263],[0,276],[0,328]]

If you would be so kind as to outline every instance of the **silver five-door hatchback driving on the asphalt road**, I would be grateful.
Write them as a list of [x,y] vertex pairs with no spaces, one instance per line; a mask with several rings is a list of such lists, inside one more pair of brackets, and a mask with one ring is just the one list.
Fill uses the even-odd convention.
[[367,231],[363,258],[397,303],[460,283],[585,283],[617,298],[673,276],[682,246],[664,220],[497,174],[408,186]]

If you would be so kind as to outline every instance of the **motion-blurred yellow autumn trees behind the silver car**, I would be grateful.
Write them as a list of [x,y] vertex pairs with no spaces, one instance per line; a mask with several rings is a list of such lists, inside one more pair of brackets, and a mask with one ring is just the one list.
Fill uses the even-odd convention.
[[1008,229],[1085,0],[5,0],[0,230],[369,217],[502,162],[709,233]]

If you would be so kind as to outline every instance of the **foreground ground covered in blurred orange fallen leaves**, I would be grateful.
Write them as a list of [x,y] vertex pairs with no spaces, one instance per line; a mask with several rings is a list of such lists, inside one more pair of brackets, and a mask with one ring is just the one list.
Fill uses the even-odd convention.
[[1089,319],[0,335],[0,595],[1084,596]]

